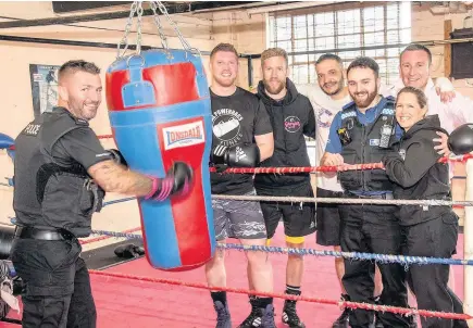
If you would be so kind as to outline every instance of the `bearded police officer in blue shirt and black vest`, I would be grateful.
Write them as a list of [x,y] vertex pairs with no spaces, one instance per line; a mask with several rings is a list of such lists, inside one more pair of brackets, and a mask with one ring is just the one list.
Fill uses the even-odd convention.
[[[370,58],[358,58],[347,68],[348,91],[353,102],[344,106],[331,126],[322,165],[377,163],[401,135],[394,98],[378,94],[379,67]],[[382,169],[339,173],[347,198],[393,199],[393,184]],[[395,205],[340,204],[340,245],[344,252],[399,254],[400,226]],[[383,305],[408,306],[406,274],[399,264],[378,264],[383,278]],[[375,264],[345,260],[343,283],[350,301],[374,303]],[[373,327],[373,313],[350,312],[351,327]],[[384,327],[409,327],[411,318],[379,313]]]

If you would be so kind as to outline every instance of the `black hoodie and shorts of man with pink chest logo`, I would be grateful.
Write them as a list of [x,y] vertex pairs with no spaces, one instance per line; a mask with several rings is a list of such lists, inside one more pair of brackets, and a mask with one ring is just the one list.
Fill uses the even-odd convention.
[[[300,94],[290,79],[287,93],[281,101],[269,97],[263,81],[258,85],[258,97],[263,101],[274,134],[274,153],[261,166],[310,166],[304,136],[315,138],[315,116],[309,99]],[[258,174],[254,187],[259,195],[314,197],[308,173],[272,175]],[[314,203],[261,202],[267,237],[272,238],[283,217],[288,237],[303,237],[315,231]]]

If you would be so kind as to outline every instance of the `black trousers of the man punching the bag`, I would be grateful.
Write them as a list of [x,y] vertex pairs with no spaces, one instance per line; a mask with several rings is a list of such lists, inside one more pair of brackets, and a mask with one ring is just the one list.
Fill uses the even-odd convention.
[[77,239],[15,239],[11,258],[25,289],[23,327],[95,328],[90,278]]

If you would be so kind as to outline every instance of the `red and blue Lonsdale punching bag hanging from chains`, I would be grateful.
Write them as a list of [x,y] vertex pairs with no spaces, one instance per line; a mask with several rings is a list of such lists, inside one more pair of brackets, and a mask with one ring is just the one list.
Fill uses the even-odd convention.
[[149,50],[107,71],[113,137],[130,169],[164,177],[173,162],[194,169],[190,192],[163,202],[138,199],[148,262],[163,270],[203,265],[215,251],[209,156],[212,112],[200,56]]

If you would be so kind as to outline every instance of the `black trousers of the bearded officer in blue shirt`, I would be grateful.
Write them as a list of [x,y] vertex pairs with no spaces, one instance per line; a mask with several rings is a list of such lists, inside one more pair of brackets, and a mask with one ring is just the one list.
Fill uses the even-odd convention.
[[[339,205],[340,247],[344,252],[365,252],[377,254],[400,254],[401,229],[395,218],[397,207],[390,205]],[[345,258],[343,283],[350,301],[374,303],[374,272],[372,261]],[[406,270],[396,263],[378,264],[383,292],[383,305],[408,306]],[[350,326],[369,327],[374,313],[365,310],[350,312]],[[378,319],[384,327],[409,327],[412,318],[399,314],[379,312]]]

